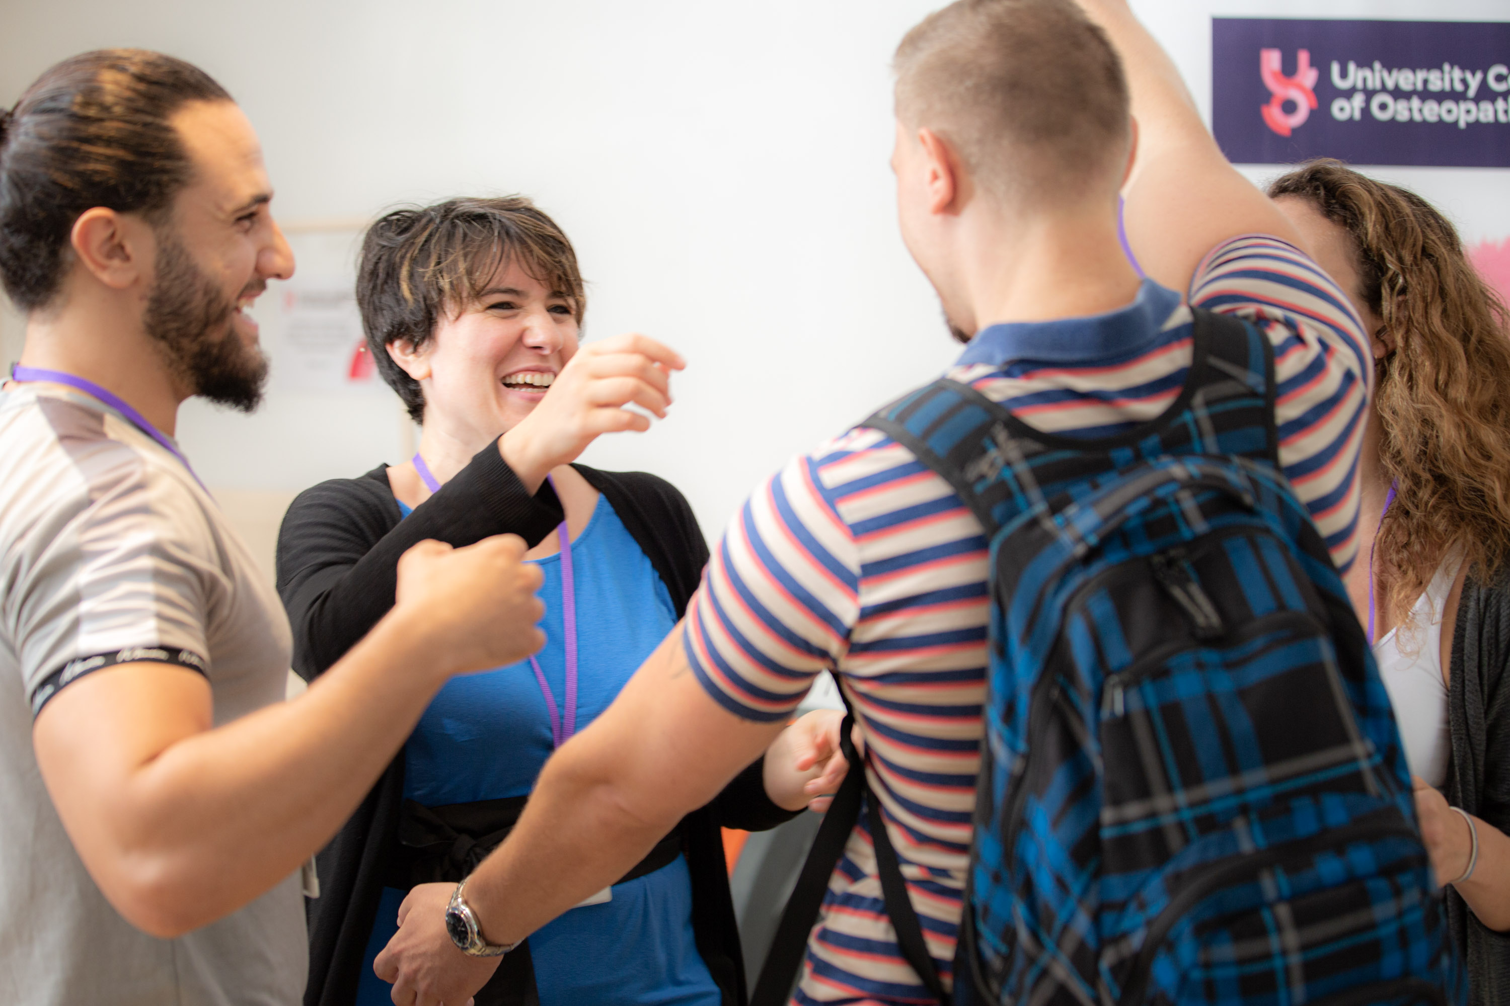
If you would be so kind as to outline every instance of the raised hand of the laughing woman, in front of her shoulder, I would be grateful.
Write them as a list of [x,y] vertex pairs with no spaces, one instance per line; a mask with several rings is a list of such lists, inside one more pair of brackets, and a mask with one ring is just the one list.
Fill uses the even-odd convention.
[[498,452],[532,493],[553,468],[569,465],[602,433],[651,428],[625,409],[640,406],[666,418],[670,371],[686,363],[643,335],[616,335],[577,350],[535,410],[498,437]]

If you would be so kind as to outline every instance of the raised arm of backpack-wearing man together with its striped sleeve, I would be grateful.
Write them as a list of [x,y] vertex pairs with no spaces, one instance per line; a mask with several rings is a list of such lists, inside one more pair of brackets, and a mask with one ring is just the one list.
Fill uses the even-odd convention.
[[[1345,572],[1357,554],[1357,452],[1373,376],[1357,314],[1303,252],[1296,226],[1222,155],[1126,0],[1080,5],[1122,54],[1132,92],[1139,137],[1123,187],[1132,253],[1191,306],[1240,317],[1268,336],[1279,465]],[[1267,238],[1234,241],[1243,235]]]

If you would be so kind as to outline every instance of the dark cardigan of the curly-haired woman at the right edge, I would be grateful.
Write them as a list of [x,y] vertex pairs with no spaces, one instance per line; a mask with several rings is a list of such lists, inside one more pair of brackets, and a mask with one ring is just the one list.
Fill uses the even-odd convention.
[[[1483,585],[1472,576],[1453,630],[1447,725],[1453,754],[1447,802],[1510,833],[1510,570]],[[1453,943],[1468,962],[1471,1006],[1510,1006],[1510,932],[1495,932],[1447,888]]]

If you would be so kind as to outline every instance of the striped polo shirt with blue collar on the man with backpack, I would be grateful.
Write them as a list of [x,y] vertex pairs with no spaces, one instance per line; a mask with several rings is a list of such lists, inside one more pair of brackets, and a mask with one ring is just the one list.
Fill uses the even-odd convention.
[[[1371,354],[1341,290],[1296,247],[1234,238],[1190,303],[1274,347],[1279,459],[1339,567],[1356,551]],[[1164,412],[1190,370],[1191,315],[1145,282],[1128,308],[982,330],[948,376],[1030,425],[1108,436]],[[862,724],[867,778],[939,973],[950,980],[982,738],[986,538],[948,484],[876,430],[850,430],[761,486],[714,549],[686,618],[698,679],[746,719],[787,716],[832,670]],[[917,1003],[864,816],[829,881],[799,1003]]]

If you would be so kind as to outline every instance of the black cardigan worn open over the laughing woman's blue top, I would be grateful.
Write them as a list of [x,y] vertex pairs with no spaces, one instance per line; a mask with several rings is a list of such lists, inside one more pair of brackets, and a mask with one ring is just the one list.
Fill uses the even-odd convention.
[[[666,584],[680,615],[708,558],[687,501],[654,475],[575,468],[613,505]],[[402,519],[388,487],[387,466],[305,490],[288,508],[278,534],[278,593],[293,624],[294,670],[314,680],[388,612],[399,557],[415,541],[436,538],[464,546],[512,532],[533,547],[560,520],[560,502],[550,483],[530,496],[494,445],[408,519]],[[305,902],[310,922],[305,1006],[349,1006],[356,997],[382,878],[396,846],[402,798],[400,753],[317,857],[320,897]],[[711,804],[683,819],[693,932],[698,952],[723,992],[723,1006],[743,1006],[746,983],[719,828],[760,831],[793,816],[766,796],[757,762]]]

